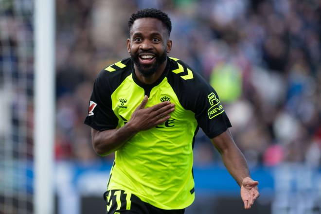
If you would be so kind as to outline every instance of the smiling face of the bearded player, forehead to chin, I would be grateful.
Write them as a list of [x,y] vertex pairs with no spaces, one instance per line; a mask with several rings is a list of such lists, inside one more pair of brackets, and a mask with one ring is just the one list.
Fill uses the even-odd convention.
[[156,18],[134,21],[130,38],[127,39],[127,50],[144,77],[165,69],[167,53],[172,48],[172,41],[168,37],[167,29]]

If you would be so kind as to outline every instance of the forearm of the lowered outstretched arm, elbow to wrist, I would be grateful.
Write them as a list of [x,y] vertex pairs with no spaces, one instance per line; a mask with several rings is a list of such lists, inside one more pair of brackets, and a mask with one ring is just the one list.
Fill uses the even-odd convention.
[[249,167],[242,152],[237,146],[232,146],[221,152],[225,167],[239,186],[246,177],[250,177]]

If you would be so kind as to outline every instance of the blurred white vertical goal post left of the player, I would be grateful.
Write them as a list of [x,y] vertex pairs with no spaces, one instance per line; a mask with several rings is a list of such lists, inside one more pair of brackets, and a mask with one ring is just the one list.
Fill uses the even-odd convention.
[[35,0],[35,214],[54,213],[54,14],[54,0]]

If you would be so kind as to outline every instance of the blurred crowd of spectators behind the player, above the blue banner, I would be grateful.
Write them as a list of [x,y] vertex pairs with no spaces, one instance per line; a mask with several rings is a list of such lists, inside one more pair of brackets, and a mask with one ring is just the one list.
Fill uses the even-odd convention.
[[[57,0],[57,160],[100,158],[83,124],[97,73],[128,57],[129,16],[172,20],[170,56],[214,87],[250,166],[321,166],[321,0]],[[195,164],[220,163],[200,130]]]

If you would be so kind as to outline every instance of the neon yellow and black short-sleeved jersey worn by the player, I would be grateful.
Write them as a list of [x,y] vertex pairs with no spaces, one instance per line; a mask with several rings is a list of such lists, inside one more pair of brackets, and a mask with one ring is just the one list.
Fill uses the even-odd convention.
[[121,189],[161,209],[183,209],[195,198],[193,144],[199,127],[209,138],[231,127],[215,90],[181,60],[168,57],[160,78],[141,83],[131,58],[101,71],[85,124],[103,131],[124,126],[148,96],[146,107],[175,103],[171,118],[141,131],[115,151],[108,190]]

